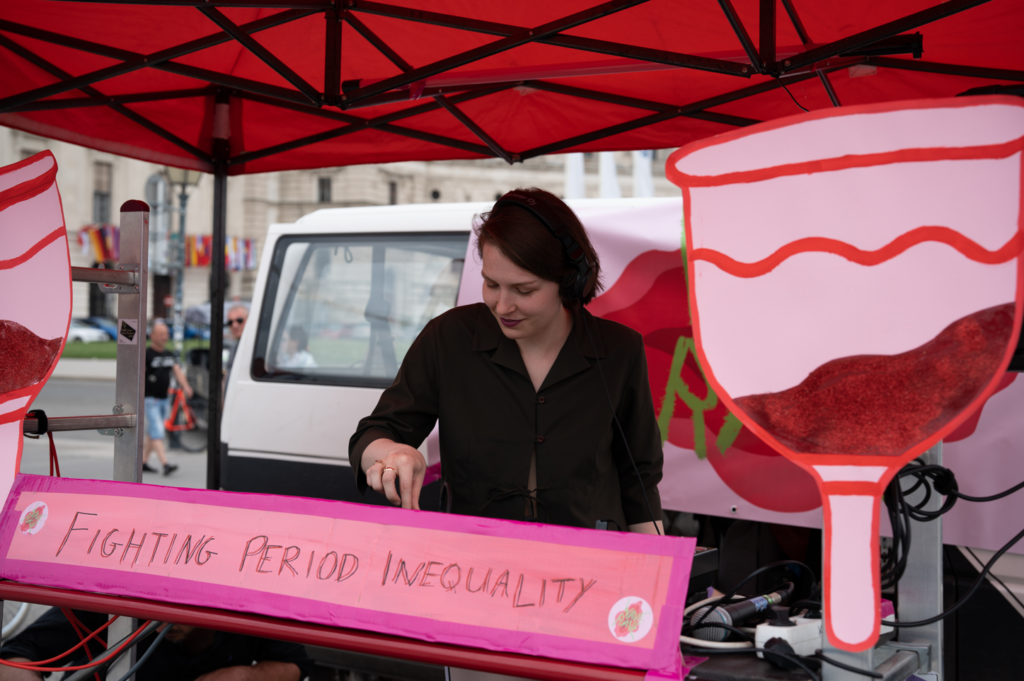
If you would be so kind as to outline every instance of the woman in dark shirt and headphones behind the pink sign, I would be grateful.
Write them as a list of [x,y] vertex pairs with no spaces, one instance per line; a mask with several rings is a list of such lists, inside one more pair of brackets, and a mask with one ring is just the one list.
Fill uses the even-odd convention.
[[475,233],[484,303],[431,321],[359,422],[349,443],[359,490],[418,509],[426,462],[415,448],[439,420],[453,512],[659,531],[643,342],[584,308],[600,262],[579,218],[548,191],[517,189]]

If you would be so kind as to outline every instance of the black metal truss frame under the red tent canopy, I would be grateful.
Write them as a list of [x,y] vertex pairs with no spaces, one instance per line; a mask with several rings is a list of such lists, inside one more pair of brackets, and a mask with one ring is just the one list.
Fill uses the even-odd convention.
[[[77,2],[96,2],[98,0],[72,0]],[[737,42],[742,47],[749,63],[703,57],[698,55],[683,54],[667,50],[651,49],[636,45],[627,45],[609,41],[581,38],[577,36],[561,35],[562,32],[583,26],[587,23],[608,16],[617,11],[623,11],[630,7],[642,4],[647,0],[611,0],[594,7],[575,12],[574,14],[549,22],[534,29],[499,24],[495,22],[483,22],[439,12],[428,12],[414,10],[404,7],[397,7],[369,0],[272,0],[262,3],[258,0],[213,0],[204,2],[203,0],[116,0],[120,4],[133,5],[163,5],[176,7],[195,7],[198,11],[207,16],[211,23],[220,29],[218,33],[213,33],[204,38],[182,43],[174,47],[160,50],[152,54],[140,54],[128,50],[120,49],[110,45],[103,45],[88,40],[71,38],[43,29],[37,29],[7,20],[0,20],[0,47],[18,54],[26,60],[46,70],[59,80],[51,85],[43,86],[0,99],[0,113],[10,112],[32,112],[48,111],[56,109],[71,109],[78,107],[106,105],[117,111],[119,114],[131,119],[133,122],[145,127],[151,132],[173,142],[185,151],[189,156],[208,166],[213,166],[214,159],[208,152],[197,148],[195,145],[180,139],[173,133],[161,126],[153,123],[133,112],[125,104],[142,101],[160,101],[166,99],[178,99],[186,97],[209,97],[215,88],[227,89],[228,94],[244,98],[258,100],[261,103],[289,109],[316,116],[328,113],[325,108],[334,110],[330,112],[331,117],[340,122],[348,123],[349,127],[335,129],[309,135],[290,142],[275,144],[264,150],[254,150],[239,154],[236,157],[228,157],[226,160],[229,166],[239,166],[246,161],[253,161],[258,158],[265,158],[273,154],[293,151],[308,144],[314,144],[325,139],[349,134],[358,130],[374,128],[395,135],[411,137],[428,141],[441,146],[456,148],[463,152],[479,154],[484,157],[497,157],[508,163],[515,163],[525,159],[534,158],[542,154],[551,154],[565,151],[580,144],[596,141],[622,132],[634,130],[640,127],[654,125],[675,116],[686,116],[700,120],[712,121],[729,126],[753,125],[758,121],[745,119],[725,114],[707,111],[713,107],[721,105],[729,101],[735,101],[744,97],[760,94],[766,89],[764,86],[753,88],[742,88],[733,92],[728,92],[718,97],[713,97],[698,102],[688,102],[683,104],[671,104],[666,102],[654,102],[625,97],[613,93],[605,93],[583,88],[574,88],[557,83],[558,77],[551,80],[530,80],[530,81],[510,81],[487,83],[486,86],[466,86],[455,88],[425,88],[412,96],[415,85],[422,83],[431,76],[436,76],[453,69],[478,61],[487,56],[492,56],[502,51],[515,47],[539,42],[543,44],[564,47],[575,50],[584,50],[592,53],[612,55],[645,61],[652,65],[663,65],[666,67],[680,69],[696,69],[712,73],[750,78],[753,74],[770,75],[774,78],[771,87],[805,80],[808,73],[817,77],[825,89],[829,100],[834,105],[840,105],[839,97],[835,88],[828,80],[827,74],[831,71],[852,66],[855,61],[838,63],[837,57],[847,57],[859,59],[861,63],[870,63],[889,69],[901,69],[907,71],[918,71],[925,73],[937,73],[955,75],[981,79],[993,79],[1005,81],[1024,82],[1024,72],[1006,69],[987,69],[962,65],[947,65],[923,61],[920,58],[905,59],[892,58],[892,54],[912,53],[915,57],[921,56],[922,40],[920,34],[901,35],[905,31],[910,31],[932,22],[950,16],[957,12],[970,9],[977,5],[984,4],[989,0],[951,0],[941,3],[913,14],[909,14],[894,22],[889,22],[873,29],[848,36],[838,41],[825,45],[816,45],[807,34],[803,23],[797,13],[793,0],[761,0],[760,1],[760,32],[759,43],[755,46],[753,39],[744,28],[731,0],[719,0],[723,15],[729,22],[736,35]],[[782,61],[776,60],[776,8],[781,2],[791,23],[803,43],[804,51],[788,56]],[[344,8],[340,9],[339,5]],[[218,8],[220,7],[280,7],[284,11],[278,12],[245,25],[236,25]],[[359,17],[359,13],[386,16],[418,24],[439,26],[450,29],[458,29],[473,33],[480,33],[499,36],[500,39],[460,54],[456,54],[432,63],[421,67],[414,67],[406,61],[392,46],[377,36]],[[313,14],[323,14],[325,17],[325,82],[323,91],[318,91],[310,83],[289,68],[280,57],[274,55],[269,49],[263,47],[254,37],[261,31],[279,27],[290,22],[304,18]],[[342,83],[341,58],[342,58],[342,31],[343,24],[348,24],[368,42],[370,42],[381,54],[387,57],[402,72],[397,76],[392,76],[376,82],[364,84],[361,81],[350,81]],[[43,42],[60,44],[66,47],[78,49],[90,54],[97,54],[109,58],[117,59],[120,63],[99,69],[97,71],[72,76],[54,65],[34,53],[26,46],[17,43],[4,33],[40,40]],[[214,47],[226,42],[237,42],[256,57],[266,63],[282,78],[290,82],[293,88],[270,85],[251,79],[240,78],[229,74],[201,69],[175,61],[174,59],[193,54],[195,52]],[[165,92],[140,92],[134,94],[122,94],[117,97],[109,97],[99,90],[91,87],[118,76],[125,75],[141,69],[158,69],[180,76],[193,78],[205,82],[206,87],[169,90]],[[551,142],[532,150],[521,150],[519,152],[504,148],[495,138],[475,123],[472,118],[463,110],[459,109],[453,101],[453,89],[456,93],[473,93],[473,98],[486,96],[502,92],[510,87],[526,87],[549,92],[558,92],[566,96],[599,99],[609,103],[623,104],[625,107],[646,109],[656,112],[643,118],[624,122],[620,125],[609,126],[602,130],[595,130],[589,133],[575,135],[560,141]],[[81,90],[86,97],[74,97],[62,99],[49,99],[58,94]],[[257,95],[254,97],[252,95]],[[428,98],[434,101],[430,107],[412,107],[401,112],[391,113],[386,116],[376,118],[362,118],[354,115],[341,117],[338,114],[348,110],[366,107],[392,104],[398,101],[408,101],[416,98]],[[464,99],[465,100],[465,99]],[[400,118],[411,118],[420,114],[433,111],[435,109],[446,110],[466,129],[472,133],[473,137],[479,139],[483,144],[467,142],[466,140],[455,139],[433,133],[416,130],[403,126],[390,125]],[[675,116],[672,110],[676,110]],[[398,118],[393,118],[397,116]],[[212,168],[208,168],[212,169]]]

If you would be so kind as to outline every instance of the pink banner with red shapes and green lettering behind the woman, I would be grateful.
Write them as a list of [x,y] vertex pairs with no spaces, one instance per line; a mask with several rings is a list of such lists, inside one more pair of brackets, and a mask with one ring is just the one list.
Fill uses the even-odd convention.
[[[946,197],[935,201],[941,202],[942,210],[952,210],[946,207]],[[814,479],[732,417],[706,380],[687,303],[682,200],[592,200],[574,203],[573,209],[601,257],[605,284],[588,308],[644,337],[665,450],[665,477],[658,484],[663,506],[820,527],[821,498]],[[471,243],[460,305],[482,300],[479,272],[476,246]],[[735,333],[749,336],[763,331],[759,323],[737,311]],[[1024,457],[1019,456],[1019,442],[1024,440],[1024,419],[1019,418],[1024,381],[1015,382],[1017,374],[1007,374],[988,402],[943,442],[945,465],[956,474],[965,494],[986,496],[1024,479]],[[437,449],[431,445],[429,451]],[[959,502],[943,516],[943,541],[996,550],[1020,529],[1017,518],[1022,515],[1024,495],[987,504]],[[884,535],[888,524],[883,514]],[[1010,551],[1024,553],[1024,544]]]

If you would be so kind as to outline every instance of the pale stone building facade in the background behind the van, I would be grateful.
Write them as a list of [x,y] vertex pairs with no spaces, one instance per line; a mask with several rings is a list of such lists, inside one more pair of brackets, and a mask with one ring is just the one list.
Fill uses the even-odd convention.
[[[71,243],[72,265],[103,264],[95,249],[80,244],[80,231],[90,226],[116,225],[121,205],[130,199],[142,199],[150,204],[150,316],[170,317],[180,244],[179,185],[167,181],[163,166],[0,127],[0,166],[44,150],[49,150],[57,162],[57,186]],[[665,177],[665,161],[670,151],[653,153],[654,196],[678,193]],[[601,196],[598,157],[585,155],[586,197]],[[567,158],[541,157],[513,166],[500,159],[403,162],[229,177],[227,237],[251,240],[261,255],[270,224],[294,222],[322,208],[494,201],[517,186],[538,186],[564,196]],[[615,174],[624,197],[634,196],[633,158],[629,152],[614,154]],[[201,175],[199,183],[186,189],[186,236],[211,235],[213,177]],[[184,268],[185,308],[209,301],[209,266]],[[255,282],[255,269],[228,272],[227,299],[249,300]],[[114,297],[100,293],[95,285],[75,283],[73,293],[73,316],[116,315]]]

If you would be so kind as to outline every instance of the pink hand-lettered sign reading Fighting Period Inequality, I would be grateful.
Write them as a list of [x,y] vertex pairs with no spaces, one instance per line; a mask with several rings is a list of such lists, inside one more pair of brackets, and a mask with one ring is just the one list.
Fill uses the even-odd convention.
[[19,475],[0,577],[681,678],[694,540]]

